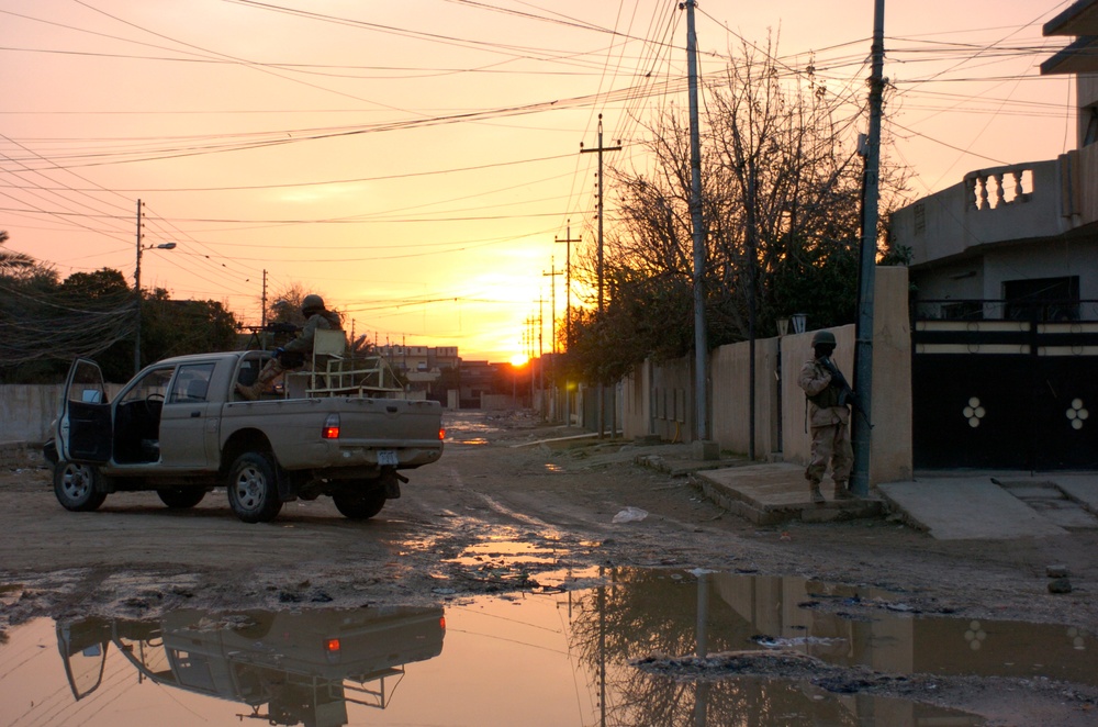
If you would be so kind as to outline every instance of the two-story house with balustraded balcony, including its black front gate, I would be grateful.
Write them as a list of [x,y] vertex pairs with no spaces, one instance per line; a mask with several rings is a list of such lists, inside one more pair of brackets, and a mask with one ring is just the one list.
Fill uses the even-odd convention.
[[1098,468],[1098,0],[1044,33],[1077,38],[1041,65],[1076,75],[1077,147],[892,219],[911,251],[916,468]]

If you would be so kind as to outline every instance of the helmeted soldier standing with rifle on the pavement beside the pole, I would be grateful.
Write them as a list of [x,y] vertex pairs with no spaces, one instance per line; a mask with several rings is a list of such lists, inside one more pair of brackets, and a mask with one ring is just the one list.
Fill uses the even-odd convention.
[[797,379],[797,383],[808,396],[808,425],[813,433],[813,454],[811,461],[805,470],[805,479],[809,482],[809,494],[816,504],[824,503],[820,481],[827,471],[828,462],[831,463],[831,476],[834,479],[834,499],[849,500],[854,496],[849,488],[850,470],[854,463],[848,428],[850,406],[844,395],[848,392],[842,385],[845,381],[831,362],[834,347],[834,334],[830,331],[817,331],[813,336],[814,357],[805,361],[800,369],[800,378]]

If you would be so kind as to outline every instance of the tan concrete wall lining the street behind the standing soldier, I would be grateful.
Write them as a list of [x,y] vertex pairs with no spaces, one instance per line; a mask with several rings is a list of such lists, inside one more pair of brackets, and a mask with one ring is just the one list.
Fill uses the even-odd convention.
[[[874,293],[873,412],[871,483],[911,477],[911,332],[907,268],[878,267]],[[854,326],[832,328],[836,363],[854,388]],[[806,465],[811,440],[804,391],[797,378],[811,358],[809,331],[755,342],[755,459]],[[748,452],[750,420],[749,344],[721,346],[710,355],[709,438],[721,450]],[[646,361],[620,388],[627,438],[657,435],[691,441],[693,371],[690,357],[664,363]],[[780,367],[778,367],[778,362]]]

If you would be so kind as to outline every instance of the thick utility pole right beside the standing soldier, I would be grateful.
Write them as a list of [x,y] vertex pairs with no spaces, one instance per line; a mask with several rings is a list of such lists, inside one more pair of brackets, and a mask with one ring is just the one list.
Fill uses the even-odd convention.
[[[870,75],[870,135],[865,148],[865,188],[862,198],[861,275],[858,283],[858,347],[854,385],[867,413],[873,412],[873,284],[877,265],[877,200],[881,174],[881,115],[884,104],[885,0],[873,4],[873,66]],[[854,415],[854,471],[851,490],[870,494],[870,422]]]

